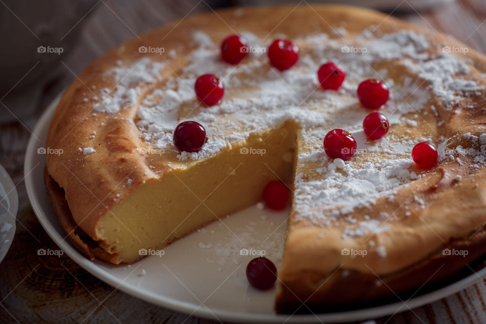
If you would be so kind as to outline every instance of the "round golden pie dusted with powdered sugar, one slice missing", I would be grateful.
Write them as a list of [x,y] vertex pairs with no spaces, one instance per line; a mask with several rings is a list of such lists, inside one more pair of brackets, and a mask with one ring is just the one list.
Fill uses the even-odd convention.
[[[231,34],[248,51],[236,64],[220,54]],[[298,48],[295,65],[272,66],[274,39]],[[326,62],[346,75],[337,90],[318,82]],[[187,17],[108,52],[65,91],[47,139],[63,150],[47,155],[48,194],[80,251],[119,264],[256,204],[282,180],[293,195],[277,312],[389,301],[486,252],[484,62],[449,37],[352,7]],[[224,84],[216,104],[194,93],[204,74]],[[378,140],[363,133],[373,110],[356,93],[369,78],[389,89]],[[200,150],[174,145],[186,120],[206,130]],[[323,149],[333,129],[356,141],[348,160]],[[419,142],[437,148],[429,169],[412,160]]]

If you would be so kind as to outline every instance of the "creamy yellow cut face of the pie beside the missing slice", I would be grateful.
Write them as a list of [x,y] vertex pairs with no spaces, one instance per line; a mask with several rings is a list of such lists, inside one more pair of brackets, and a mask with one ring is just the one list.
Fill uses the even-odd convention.
[[284,123],[210,159],[194,160],[190,173],[181,168],[168,172],[163,181],[147,181],[99,221],[100,246],[126,262],[136,261],[140,249],[163,248],[256,204],[262,188],[275,177],[292,185],[296,134],[294,123]]

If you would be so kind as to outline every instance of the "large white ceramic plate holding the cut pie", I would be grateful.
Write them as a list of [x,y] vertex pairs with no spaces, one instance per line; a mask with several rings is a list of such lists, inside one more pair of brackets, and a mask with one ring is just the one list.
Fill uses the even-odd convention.
[[[25,155],[25,183],[32,208],[56,244],[76,263],[107,284],[127,294],[187,314],[234,322],[344,322],[375,318],[418,307],[458,292],[486,276],[477,274],[453,282],[434,292],[379,307],[318,315],[277,315],[273,312],[275,290],[260,292],[249,287],[245,268],[250,255],[241,249],[263,250],[277,266],[286,232],[288,211],[273,213],[251,207],[222,222],[214,222],[176,241],[164,255],[149,256],[131,266],[91,262],[65,239],[51,210],[43,171],[44,147],[51,116],[58,100],[39,120]],[[250,253],[249,253],[250,254]],[[144,273],[144,275],[142,275]]]

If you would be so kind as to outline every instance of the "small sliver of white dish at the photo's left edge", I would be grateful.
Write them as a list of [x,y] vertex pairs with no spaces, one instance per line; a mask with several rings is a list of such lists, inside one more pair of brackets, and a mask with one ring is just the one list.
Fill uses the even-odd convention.
[[19,198],[15,185],[4,167],[0,166],[0,262],[14,240],[18,208]]

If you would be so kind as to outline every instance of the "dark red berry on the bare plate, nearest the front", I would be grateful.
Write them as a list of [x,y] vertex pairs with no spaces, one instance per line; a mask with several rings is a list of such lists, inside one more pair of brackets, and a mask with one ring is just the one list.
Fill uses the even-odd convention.
[[247,265],[247,279],[253,287],[268,290],[277,280],[277,268],[267,258],[255,258]]

